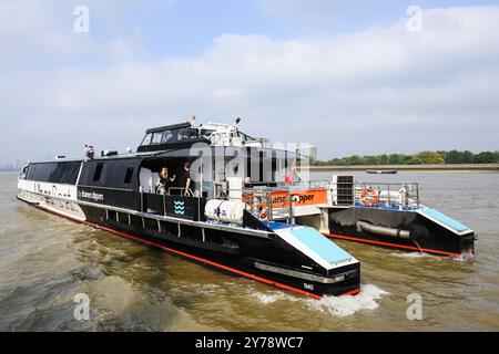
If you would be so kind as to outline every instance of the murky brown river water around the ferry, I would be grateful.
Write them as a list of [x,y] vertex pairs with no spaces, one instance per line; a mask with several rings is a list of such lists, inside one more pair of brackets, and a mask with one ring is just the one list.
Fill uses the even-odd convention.
[[[317,301],[39,211],[1,173],[0,331],[499,331],[499,175],[360,177],[420,183],[425,204],[476,230],[476,258],[338,241],[363,263],[363,293]],[[80,293],[89,321],[74,320]],[[413,293],[421,321],[407,319]]]

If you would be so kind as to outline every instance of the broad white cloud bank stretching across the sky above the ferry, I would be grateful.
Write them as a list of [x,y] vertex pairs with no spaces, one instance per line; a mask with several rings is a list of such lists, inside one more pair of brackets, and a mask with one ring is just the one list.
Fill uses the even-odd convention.
[[197,113],[246,117],[251,134],[316,143],[324,157],[497,148],[499,7],[424,19],[420,34],[404,20],[320,39],[225,34],[192,59],[133,60],[136,48],[116,40],[102,45],[131,60],[3,75],[0,115],[14,133],[2,144],[22,139],[23,157],[90,142],[122,149]]

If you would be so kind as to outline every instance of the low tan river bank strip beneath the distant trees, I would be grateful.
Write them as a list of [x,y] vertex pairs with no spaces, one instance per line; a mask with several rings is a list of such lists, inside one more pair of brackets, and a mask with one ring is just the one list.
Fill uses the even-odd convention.
[[[358,165],[358,166],[309,166],[312,173],[397,170],[420,173],[499,173],[499,164],[483,165]],[[301,168],[298,168],[299,170]]]

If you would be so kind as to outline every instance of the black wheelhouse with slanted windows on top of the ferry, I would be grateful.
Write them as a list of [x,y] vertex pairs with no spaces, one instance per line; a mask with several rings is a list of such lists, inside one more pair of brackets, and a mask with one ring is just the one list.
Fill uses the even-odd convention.
[[191,123],[166,125],[147,129],[136,152],[149,153],[190,148],[196,143],[210,144],[210,139],[203,135],[202,129],[192,127]]

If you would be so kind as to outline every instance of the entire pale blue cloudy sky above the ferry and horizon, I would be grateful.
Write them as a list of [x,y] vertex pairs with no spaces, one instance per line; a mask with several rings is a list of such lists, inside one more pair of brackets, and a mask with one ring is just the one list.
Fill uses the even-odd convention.
[[323,158],[496,150],[499,1],[0,0],[0,164],[193,113]]

